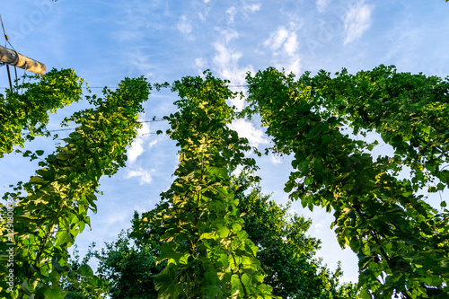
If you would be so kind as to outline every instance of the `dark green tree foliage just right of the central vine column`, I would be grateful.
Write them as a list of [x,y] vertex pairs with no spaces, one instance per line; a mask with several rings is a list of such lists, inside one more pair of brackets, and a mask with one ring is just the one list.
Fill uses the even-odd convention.
[[357,298],[357,287],[340,284],[340,268],[335,273],[321,266],[314,256],[320,241],[305,233],[312,224],[303,216],[288,215],[289,206],[277,205],[263,195],[247,173],[233,182],[244,214],[243,229],[258,248],[266,276],[264,283],[273,288],[273,295],[282,298]]

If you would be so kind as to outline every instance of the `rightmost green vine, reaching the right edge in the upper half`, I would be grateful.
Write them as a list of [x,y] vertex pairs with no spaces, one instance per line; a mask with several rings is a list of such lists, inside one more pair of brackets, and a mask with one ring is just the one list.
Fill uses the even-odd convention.
[[357,134],[375,130],[394,148],[397,163],[412,172],[415,191],[436,181],[449,183],[449,81],[437,76],[397,73],[394,66],[337,77],[321,71],[307,78],[315,92],[326,99],[327,108],[349,120]]

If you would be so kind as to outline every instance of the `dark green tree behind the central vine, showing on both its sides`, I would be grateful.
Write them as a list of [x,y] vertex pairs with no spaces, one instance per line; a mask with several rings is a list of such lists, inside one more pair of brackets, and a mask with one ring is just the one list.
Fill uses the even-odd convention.
[[[339,284],[341,270],[332,274],[314,258],[320,242],[305,235],[310,221],[287,215],[287,207],[261,194],[260,187],[246,173],[233,180],[233,191],[244,214],[242,229],[260,249],[257,257],[266,271],[264,281],[273,287],[274,295],[297,299],[357,297],[355,286]],[[164,263],[155,262],[163,244],[159,241],[163,228],[150,224],[136,239],[132,232],[138,228],[137,214],[132,223],[133,229],[120,233],[117,241],[106,243],[105,249],[90,251],[86,258],[98,259],[97,273],[110,282],[111,299],[157,298],[153,276],[164,268]],[[78,259],[75,265],[80,264]],[[90,298],[83,289],[67,289],[71,292],[66,298]]]

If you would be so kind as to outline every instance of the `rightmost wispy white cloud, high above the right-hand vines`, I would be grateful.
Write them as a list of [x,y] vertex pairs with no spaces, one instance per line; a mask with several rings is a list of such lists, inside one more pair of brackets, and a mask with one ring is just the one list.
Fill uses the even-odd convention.
[[371,25],[371,12],[374,6],[365,4],[365,0],[352,5],[345,17],[345,31],[347,32],[344,44],[359,39]]

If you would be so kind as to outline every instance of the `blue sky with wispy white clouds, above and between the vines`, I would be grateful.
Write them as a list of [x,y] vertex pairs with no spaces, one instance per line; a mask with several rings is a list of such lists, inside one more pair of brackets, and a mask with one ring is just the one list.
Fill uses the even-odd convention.
[[[125,76],[139,75],[151,83],[173,82],[206,68],[233,85],[243,85],[247,71],[268,66],[297,75],[341,67],[355,73],[380,64],[427,75],[445,76],[449,70],[449,4],[444,0],[4,0],[0,13],[18,52],[48,69],[71,67],[93,87],[114,87]],[[7,85],[2,67],[0,86]],[[171,113],[175,100],[171,92],[154,91],[141,119]],[[233,104],[244,106],[243,101]],[[49,128],[57,129],[61,119],[85,107],[81,102],[58,111]],[[255,120],[239,120],[232,127],[260,149],[269,145]],[[145,123],[128,150],[127,168],[101,180],[104,195],[98,214],[92,215],[92,231],[77,238],[82,253],[90,242],[113,241],[128,228],[134,210],[152,209],[169,187],[177,149],[167,136],[148,134],[165,128],[165,122]],[[38,138],[27,146],[49,154],[55,142]],[[289,161],[258,159],[262,190],[280,203],[287,201],[283,188]],[[36,166],[19,155],[5,157],[0,190],[27,180]],[[339,248],[329,228],[332,215],[320,208],[312,213],[297,202],[292,210],[313,217],[309,233],[322,241],[323,262],[334,269],[341,260],[344,280],[357,281],[356,255]]]

